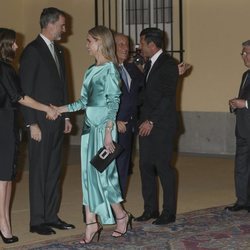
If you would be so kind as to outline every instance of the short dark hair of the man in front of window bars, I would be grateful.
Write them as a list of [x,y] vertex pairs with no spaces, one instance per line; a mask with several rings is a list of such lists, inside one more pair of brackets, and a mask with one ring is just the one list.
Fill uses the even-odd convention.
[[141,31],[140,36],[145,36],[147,44],[153,42],[157,48],[163,48],[164,44],[164,33],[158,28],[146,28]]

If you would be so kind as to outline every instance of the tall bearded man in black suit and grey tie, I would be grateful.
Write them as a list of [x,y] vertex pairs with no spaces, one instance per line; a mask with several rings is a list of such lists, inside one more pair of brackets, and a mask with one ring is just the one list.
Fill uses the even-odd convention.
[[[24,49],[20,61],[20,78],[24,92],[47,104],[67,103],[67,86],[63,49],[54,43],[65,32],[65,14],[46,8],[40,16],[41,33]],[[30,232],[54,234],[52,227],[71,229],[73,225],[59,219],[60,174],[63,133],[72,125],[67,116],[55,121],[33,109],[23,110],[30,130],[29,190]]]

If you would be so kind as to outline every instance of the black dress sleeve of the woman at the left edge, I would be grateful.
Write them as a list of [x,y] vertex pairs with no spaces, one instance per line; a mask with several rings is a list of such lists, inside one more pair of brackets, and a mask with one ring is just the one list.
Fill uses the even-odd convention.
[[14,68],[10,65],[1,67],[0,82],[12,103],[18,102],[25,96],[20,87],[20,80]]

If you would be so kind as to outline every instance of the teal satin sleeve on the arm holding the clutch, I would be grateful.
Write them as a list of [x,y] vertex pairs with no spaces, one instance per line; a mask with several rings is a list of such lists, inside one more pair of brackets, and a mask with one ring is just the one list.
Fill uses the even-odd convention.
[[106,100],[108,106],[107,120],[115,122],[120,104],[120,75],[115,68],[112,68],[107,74],[106,79]]

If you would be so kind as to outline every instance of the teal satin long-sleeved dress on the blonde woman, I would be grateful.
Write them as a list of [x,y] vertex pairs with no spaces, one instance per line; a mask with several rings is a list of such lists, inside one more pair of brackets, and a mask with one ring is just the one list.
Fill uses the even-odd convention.
[[70,112],[86,110],[81,136],[83,204],[99,215],[103,224],[115,223],[110,204],[123,200],[116,163],[113,161],[100,173],[90,160],[104,145],[107,121],[113,122],[112,138],[117,139],[115,120],[121,94],[119,85],[119,72],[112,62],[92,66],[85,73],[80,99],[67,106]]

